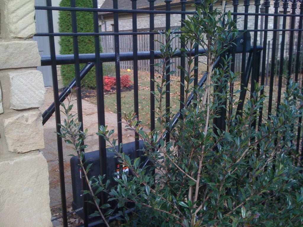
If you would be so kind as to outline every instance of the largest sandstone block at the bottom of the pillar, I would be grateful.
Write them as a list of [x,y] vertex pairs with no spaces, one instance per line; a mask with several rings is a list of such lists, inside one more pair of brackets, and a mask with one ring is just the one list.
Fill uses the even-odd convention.
[[52,227],[48,166],[41,153],[0,162],[0,226]]

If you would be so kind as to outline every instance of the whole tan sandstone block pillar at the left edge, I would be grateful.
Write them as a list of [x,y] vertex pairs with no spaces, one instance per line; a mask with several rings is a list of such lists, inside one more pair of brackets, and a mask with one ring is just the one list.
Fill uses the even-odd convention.
[[0,226],[52,226],[34,0],[0,1]]

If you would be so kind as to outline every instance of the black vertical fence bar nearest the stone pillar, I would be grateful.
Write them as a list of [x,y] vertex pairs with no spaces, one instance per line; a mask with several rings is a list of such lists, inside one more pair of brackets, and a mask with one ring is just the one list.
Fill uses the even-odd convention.
[[[52,6],[52,0],[46,1],[46,6]],[[48,20],[48,32],[54,33],[52,10],[47,10]],[[60,133],[60,102],[58,91],[58,78],[57,78],[57,64],[56,64],[56,52],[55,52],[55,40],[54,36],[49,35],[50,54],[52,61],[52,79],[54,90],[54,102],[55,102],[55,119],[56,119],[56,131]],[[58,162],[59,162],[59,180],[60,180],[60,192],[61,192],[61,207],[62,207],[62,219],[63,226],[68,227],[67,223],[67,207],[66,207],[66,195],[65,195],[65,182],[64,182],[64,162],[63,162],[63,149],[62,138],[57,134],[57,148],[58,148]]]

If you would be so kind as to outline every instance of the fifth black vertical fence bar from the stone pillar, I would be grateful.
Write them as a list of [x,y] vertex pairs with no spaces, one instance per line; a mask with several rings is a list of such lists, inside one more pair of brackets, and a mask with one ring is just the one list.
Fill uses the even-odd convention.
[[[137,9],[137,0],[132,1],[132,9]],[[132,31],[137,32],[137,13],[132,14]],[[137,119],[139,120],[139,95],[138,95],[138,40],[133,34],[133,65],[134,65],[134,105]],[[135,156],[139,157],[139,135],[135,133]]]

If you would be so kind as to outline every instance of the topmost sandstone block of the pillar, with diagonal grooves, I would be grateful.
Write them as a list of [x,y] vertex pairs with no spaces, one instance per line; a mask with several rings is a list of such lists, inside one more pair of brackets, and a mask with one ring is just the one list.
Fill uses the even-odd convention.
[[4,0],[5,24],[12,38],[30,38],[36,32],[35,1],[33,0]]

